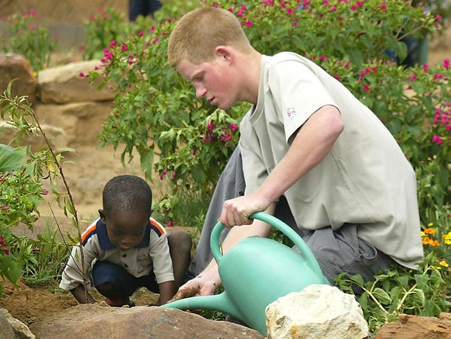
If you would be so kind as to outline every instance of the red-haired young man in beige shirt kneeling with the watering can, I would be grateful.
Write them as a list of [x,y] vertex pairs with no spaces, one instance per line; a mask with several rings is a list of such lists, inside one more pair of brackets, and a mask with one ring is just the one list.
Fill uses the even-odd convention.
[[253,104],[207,212],[191,267],[198,276],[175,299],[211,295],[220,285],[201,246],[218,217],[245,225],[230,230],[227,251],[248,236],[269,235],[267,224],[248,217],[276,207],[330,282],[340,272],[371,279],[395,263],[414,268],[423,260],[414,170],[382,122],[339,81],[296,53],[262,55],[220,8],[183,16],[168,56],[212,105]]

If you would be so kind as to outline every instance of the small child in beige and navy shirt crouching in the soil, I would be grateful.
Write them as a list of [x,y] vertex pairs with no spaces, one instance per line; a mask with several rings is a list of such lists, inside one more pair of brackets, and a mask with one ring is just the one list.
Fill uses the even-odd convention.
[[[152,192],[137,176],[115,176],[103,189],[103,210],[81,235],[85,278],[110,306],[134,306],[129,297],[139,287],[160,293],[158,305],[173,297],[184,279],[192,242],[182,231],[167,236],[151,217]],[[92,265],[94,264],[94,265]],[[80,247],[74,246],[60,288],[80,304],[94,303],[83,288]]]

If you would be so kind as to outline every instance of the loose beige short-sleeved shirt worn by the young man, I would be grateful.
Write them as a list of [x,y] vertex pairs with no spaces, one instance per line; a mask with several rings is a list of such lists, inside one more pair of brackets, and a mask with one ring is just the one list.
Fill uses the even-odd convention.
[[395,261],[423,261],[416,179],[391,133],[321,67],[296,53],[262,56],[258,101],[241,121],[246,193],[255,191],[316,110],[336,106],[344,129],[329,154],[285,192],[301,229],[359,224],[359,238]]

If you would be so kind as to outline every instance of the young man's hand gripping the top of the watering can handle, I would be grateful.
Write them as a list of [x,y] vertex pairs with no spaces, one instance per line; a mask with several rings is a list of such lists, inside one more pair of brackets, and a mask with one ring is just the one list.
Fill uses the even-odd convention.
[[266,210],[272,202],[264,199],[259,191],[227,200],[223,204],[219,220],[228,227],[250,225],[253,220],[249,219],[249,216],[255,212]]

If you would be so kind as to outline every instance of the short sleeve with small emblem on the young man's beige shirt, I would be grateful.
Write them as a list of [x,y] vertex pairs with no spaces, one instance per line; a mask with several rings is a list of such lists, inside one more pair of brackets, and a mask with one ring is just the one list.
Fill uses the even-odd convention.
[[314,71],[299,61],[273,65],[268,82],[287,143],[316,110],[326,105],[337,106]]

